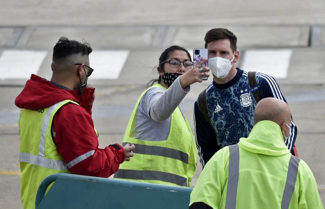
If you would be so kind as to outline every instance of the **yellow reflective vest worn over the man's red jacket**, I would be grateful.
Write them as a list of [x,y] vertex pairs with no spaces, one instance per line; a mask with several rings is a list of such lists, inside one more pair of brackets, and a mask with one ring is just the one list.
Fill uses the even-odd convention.
[[70,173],[51,134],[55,113],[67,103],[79,105],[72,100],[64,100],[44,109],[21,109],[19,162],[24,209],[35,208],[36,192],[43,179],[55,173]]

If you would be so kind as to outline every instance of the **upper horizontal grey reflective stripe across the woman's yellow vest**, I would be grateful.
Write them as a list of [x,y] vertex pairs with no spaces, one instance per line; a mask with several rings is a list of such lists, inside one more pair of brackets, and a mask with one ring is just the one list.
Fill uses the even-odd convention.
[[[125,146],[127,143],[122,143]],[[171,148],[163,148],[158,146],[149,146],[149,145],[138,145],[134,144],[135,149],[133,150],[134,153],[138,154],[149,154],[149,155],[158,155],[162,157],[169,157],[172,159],[180,160],[189,164],[189,155],[183,151]]]

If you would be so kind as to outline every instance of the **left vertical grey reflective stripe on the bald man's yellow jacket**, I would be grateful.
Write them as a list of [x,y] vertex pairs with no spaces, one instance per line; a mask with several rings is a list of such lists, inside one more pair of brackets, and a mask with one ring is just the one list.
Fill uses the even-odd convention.
[[238,176],[239,176],[239,148],[238,145],[230,145],[226,209],[236,208]]

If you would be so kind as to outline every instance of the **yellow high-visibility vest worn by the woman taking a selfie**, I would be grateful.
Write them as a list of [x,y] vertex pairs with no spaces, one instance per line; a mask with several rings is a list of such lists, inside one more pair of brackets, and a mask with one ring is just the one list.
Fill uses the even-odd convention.
[[[147,90],[157,87],[166,90],[159,84]],[[197,151],[189,122],[183,117],[179,107],[171,116],[170,131],[166,140],[138,140],[130,136],[136,122],[138,105],[147,90],[140,95],[123,138],[123,145],[135,145],[134,156],[120,165],[114,178],[190,187],[196,169]]]

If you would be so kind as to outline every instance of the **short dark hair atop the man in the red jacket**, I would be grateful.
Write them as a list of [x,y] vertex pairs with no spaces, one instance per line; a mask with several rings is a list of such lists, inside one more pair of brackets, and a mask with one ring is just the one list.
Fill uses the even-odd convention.
[[87,42],[81,43],[63,36],[53,48],[53,60],[67,58],[74,54],[89,56],[92,51],[93,49]]

